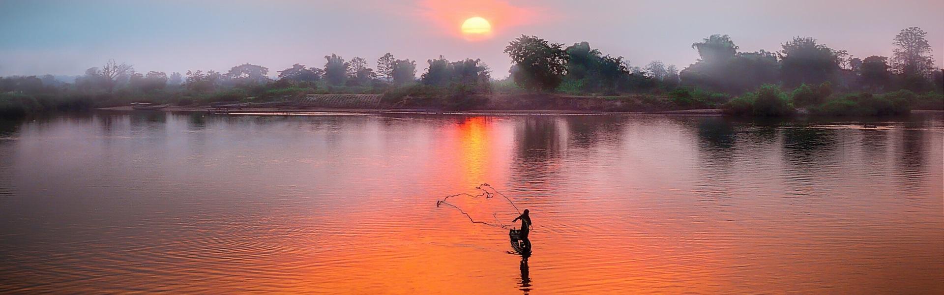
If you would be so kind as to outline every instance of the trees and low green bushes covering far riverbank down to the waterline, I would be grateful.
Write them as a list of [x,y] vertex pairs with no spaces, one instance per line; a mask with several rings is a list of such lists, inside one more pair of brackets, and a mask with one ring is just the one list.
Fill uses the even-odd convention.
[[[908,27],[895,36],[891,58],[852,57],[813,38],[797,37],[778,52],[739,52],[727,35],[693,43],[700,59],[679,71],[661,61],[633,66],[589,43],[549,43],[521,36],[505,48],[509,78],[493,79],[480,60],[416,61],[387,53],[371,68],[362,58],[331,54],[322,67],[295,64],[269,78],[269,69],[241,64],[226,73],[138,73],[108,61],[77,77],[0,78],[0,115],[89,110],[146,101],[199,106],[220,101],[265,102],[316,94],[382,95],[387,108],[474,110],[497,95],[585,97],[612,101],[618,110],[723,108],[733,115],[894,115],[944,110],[944,75],[926,33]],[[530,109],[544,109],[540,103]]]

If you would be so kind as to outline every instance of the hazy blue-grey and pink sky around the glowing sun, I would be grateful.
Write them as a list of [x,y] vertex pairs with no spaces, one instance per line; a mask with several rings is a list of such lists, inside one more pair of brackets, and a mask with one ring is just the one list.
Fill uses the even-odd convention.
[[[465,38],[460,26],[472,16],[491,21],[492,36]],[[731,35],[741,51],[809,36],[866,57],[890,56],[907,26],[928,32],[940,66],[940,0],[0,0],[0,76],[78,75],[109,59],[168,73],[249,62],[274,76],[293,63],[321,67],[330,53],[375,66],[392,52],[417,61],[419,72],[439,55],[481,59],[502,78],[510,65],[502,50],[521,34],[681,69],[698,58],[691,43],[711,34]]]

